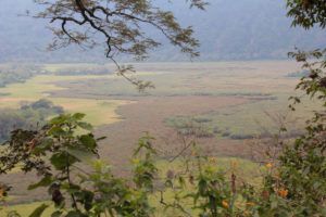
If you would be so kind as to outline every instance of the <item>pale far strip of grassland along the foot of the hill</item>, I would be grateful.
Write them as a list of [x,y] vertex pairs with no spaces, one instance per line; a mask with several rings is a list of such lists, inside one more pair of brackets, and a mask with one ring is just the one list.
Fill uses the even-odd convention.
[[[155,63],[135,65],[139,79],[150,80],[155,89],[147,95],[237,95],[292,93],[298,78],[287,77],[300,71],[293,62]],[[62,82],[71,91],[89,95],[145,95],[121,77]]]

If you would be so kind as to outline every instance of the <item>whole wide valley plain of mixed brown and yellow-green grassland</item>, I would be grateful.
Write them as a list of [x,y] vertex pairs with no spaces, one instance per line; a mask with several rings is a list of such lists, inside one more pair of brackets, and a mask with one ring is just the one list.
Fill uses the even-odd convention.
[[[88,67],[89,64],[77,66]],[[289,128],[300,127],[298,123],[318,108],[313,101],[306,101],[305,106],[288,114],[288,98],[301,94],[293,90],[298,78],[287,76],[300,71],[293,62],[155,63],[135,66],[140,72],[136,76],[152,81],[155,89],[139,93],[115,75],[41,75],[25,84],[1,88],[0,107],[17,107],[22,101],[47,98],[67,112],[86,113],[87,120],[97,126],[96,135],[108,137],[100,144],[100,155],[114,165],[118,175],[128,174],[129,167],[126,165],[129,164],[134,144],[143,131],[156,138],[155,145],[160,151],[173,155],[179,148],[174,125],[184,119],[195,119],[214,132],[214,137],[198,138],[199,145],[218,156],[221,168],[228,170],[230,162],[237,161],[239,177],[255,176],[259,166],[248,159],[250,150],[242,140],[244,138],[233,139],[231,136],[253,136],[265,129],[273,131],[279,127],[275,122],[277,115],[288,116]],[[46,67],[55,72],[76,65],[52,64]],[[124,122],[120,122],[122,118]],[[224,137],[225,132],[229,135]],[[179,165],[159,162],[159,166],[164,171]],[[17,195],[13,203],[46,197],[38,193],[28,196],[26,186],[34,180],[33,177],[11,174],[3,181],[23,178],[25,186],[21,181],[13,183],[12,193]],[[252,176],[247,178],[259,182]],[[38,203],[10,208],[26,214],[36,205]]]

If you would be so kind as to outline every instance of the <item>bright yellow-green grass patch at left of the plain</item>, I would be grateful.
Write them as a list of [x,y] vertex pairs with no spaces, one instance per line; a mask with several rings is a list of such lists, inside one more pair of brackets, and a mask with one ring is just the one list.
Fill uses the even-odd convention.
[[[87,114],[87,122],[95,126],[106,125],[120,120],[115,110],[130,102],[122,100],[93,100],[74,98],[51,98],[51,92],[63,90],[54,85],[63,80],[92,79],[96,76],[51,76],[42,75],[27,80],[25,84],[10,85],[0,91],[7,93],[0,98],[0,107],[17,107],[23,101],[37,101],[47,98],[65,111]],[[105,76],[108,77],[108,76]]]

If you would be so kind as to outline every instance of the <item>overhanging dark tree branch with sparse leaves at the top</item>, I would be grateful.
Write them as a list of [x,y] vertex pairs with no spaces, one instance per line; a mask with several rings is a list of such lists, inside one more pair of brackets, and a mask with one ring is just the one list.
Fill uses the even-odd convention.
[[[115,58],[120,54],[133,56],[137,61],[148,58],[149,51],[161,42],[147,34],[154,29],[163,35],[173,46],[190,58],[199,55],[199,41],[193,37],[191,26],[183,27],[171,11],[155,5],[151,0],[34,0],[41,7],[37,18],[50,21],[53,41],[49,50],[57,50],[70,44],[84,49],[105,48],[105,55],[117,66],[118,75],[128,78],[139,90],[152,87],[152,84],[130,78]],[[165,0],[166,3],[172,3]],[[187,0],[190,8],[204,10],[204,0]],[[29,12],[28,12],[29,14]]]

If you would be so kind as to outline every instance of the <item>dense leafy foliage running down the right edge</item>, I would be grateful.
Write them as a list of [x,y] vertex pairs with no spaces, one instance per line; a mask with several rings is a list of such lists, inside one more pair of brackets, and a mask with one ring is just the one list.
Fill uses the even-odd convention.
[[[291,8],[289,15],[293,16],[293,25],[305,28],[319,25],[325,28],[324,1],[288,1]],[[326,107],[326,50],[304,52],[298,50],[289,55],[302,62],[302,68],[308,76],[302,77],[297,89],[305,91],[306,95],[317,99]],[[300,103],[300,98],[290,98],[293,104]],[[326,192],[326,114],[315,112],[314,118],[306,122],[306,132],[286,145],[279,156],[279,167],[276,176],[266,177],[265,187],[269,189],[269,199],[280,194],[286,201],[274,200],[275,214],[285,216],[325,216]],[[281,208],[279,208],[281,207]]]

